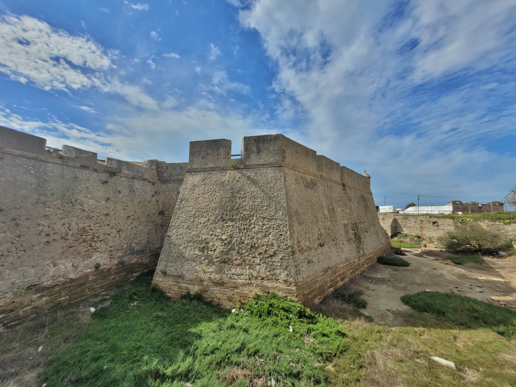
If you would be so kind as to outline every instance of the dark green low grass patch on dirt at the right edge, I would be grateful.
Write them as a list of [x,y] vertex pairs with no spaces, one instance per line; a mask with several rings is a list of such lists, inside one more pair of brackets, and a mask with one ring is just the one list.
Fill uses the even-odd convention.
[[401,296],[401,302],[417,312],[467,328],[491,328],[516,338],[516,311],[455,293],[419,292]]

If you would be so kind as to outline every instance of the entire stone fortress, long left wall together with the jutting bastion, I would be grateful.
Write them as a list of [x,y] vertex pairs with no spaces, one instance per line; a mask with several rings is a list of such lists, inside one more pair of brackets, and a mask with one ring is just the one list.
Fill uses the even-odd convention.
[[390,246],[369,178],[282,135],[245,137],[238,159],[229,140],[194,141],[176,164],[45,145],[0,126],[0,324],[159,256],[154,283],[172,297],[229,306],[276,291],[311,305]]

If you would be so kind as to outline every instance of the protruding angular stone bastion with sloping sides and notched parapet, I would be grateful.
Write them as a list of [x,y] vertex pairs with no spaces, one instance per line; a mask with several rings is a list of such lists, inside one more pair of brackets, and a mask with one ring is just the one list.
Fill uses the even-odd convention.
[[390,248],[370,178],[282,135],[190,143],[153,283],[231,306],[275,291],[312,305]]

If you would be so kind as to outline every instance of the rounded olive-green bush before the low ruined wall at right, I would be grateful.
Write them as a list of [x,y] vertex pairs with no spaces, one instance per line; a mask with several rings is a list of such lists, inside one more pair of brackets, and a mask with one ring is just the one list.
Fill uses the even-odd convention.
[[496,253],[507,247],[507,239],[500,234],[473,223],[457,224],[454,231],[438,238],[439,243],[451,252]]

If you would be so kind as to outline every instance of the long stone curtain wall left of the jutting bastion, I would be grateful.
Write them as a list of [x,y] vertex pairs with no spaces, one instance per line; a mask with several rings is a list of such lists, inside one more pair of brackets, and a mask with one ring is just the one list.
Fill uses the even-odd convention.
[[154,269],[187,163],[141,166],[0,126],[0,323]]

